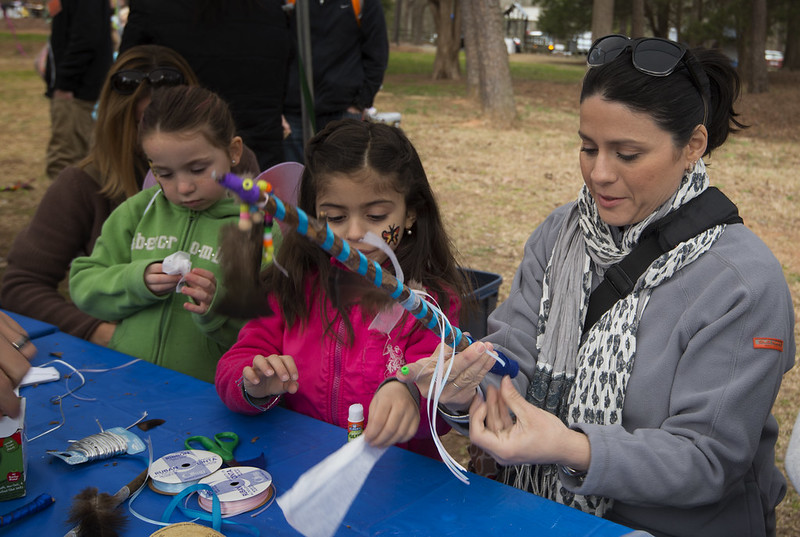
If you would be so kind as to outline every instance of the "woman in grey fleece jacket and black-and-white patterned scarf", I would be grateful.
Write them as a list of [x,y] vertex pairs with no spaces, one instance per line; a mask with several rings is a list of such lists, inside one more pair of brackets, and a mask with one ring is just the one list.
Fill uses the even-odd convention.
[[[608,36],[588,59],[585,185],[528,240],[440,411],[519,488],[657,536],[774,535],[770,411],[794,310],[703,162],[742,127],[739,79],[721,53],[663,39]],[[487,375],[487,348],[523,374]],[[424,365],[404,377],[422,390]]]

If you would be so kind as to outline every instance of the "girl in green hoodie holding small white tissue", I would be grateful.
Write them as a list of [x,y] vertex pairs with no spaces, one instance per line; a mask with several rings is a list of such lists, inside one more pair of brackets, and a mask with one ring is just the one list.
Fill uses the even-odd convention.
[[[239,162],[242,140],[225,102],[188,86],[153,92],[139,137],[158,185],[120,205],[92,255],[73,261],[70,294],[117,323],[109,347],[213,381],[242,325],[213,307],[220,230],[239,218],[215,178]],[[164,260],[177,252],[188,261],[172,270]]]

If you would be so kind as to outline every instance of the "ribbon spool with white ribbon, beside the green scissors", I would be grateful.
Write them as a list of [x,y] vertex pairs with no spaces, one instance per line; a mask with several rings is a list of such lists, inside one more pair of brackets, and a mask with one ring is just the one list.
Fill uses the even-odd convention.
[[147,474],[150,488],[159,494],[175,495],[196,485],[222,467],[222,457],[210,451],[176,451],[153,461]]

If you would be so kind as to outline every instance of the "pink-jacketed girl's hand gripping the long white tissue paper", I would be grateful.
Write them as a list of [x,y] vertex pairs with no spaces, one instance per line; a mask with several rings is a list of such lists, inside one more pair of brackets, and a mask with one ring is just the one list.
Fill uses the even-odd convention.
[[369,404],[364,440],[378,448],[413,438],[419,428],[419,408],[402,382],[387,382]]

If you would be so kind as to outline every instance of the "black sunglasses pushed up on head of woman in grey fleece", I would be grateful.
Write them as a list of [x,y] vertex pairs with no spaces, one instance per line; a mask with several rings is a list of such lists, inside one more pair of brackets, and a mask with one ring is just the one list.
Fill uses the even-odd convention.
[[631,39],[626,35],[607,35],[592,43],[586,63],[589,67],[598,67],[615,60],[628,48],[631,49],[631,58],[636,70],[650,76],[669,76],[683,61],[689,77],[700,92],[700,98],[703,99],[703,125],[706,124],[708,99],[700,83],[701,77],[697,72],[699,66],[696,65],[691,52],[680,43],[660,37]]

